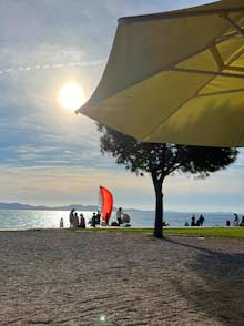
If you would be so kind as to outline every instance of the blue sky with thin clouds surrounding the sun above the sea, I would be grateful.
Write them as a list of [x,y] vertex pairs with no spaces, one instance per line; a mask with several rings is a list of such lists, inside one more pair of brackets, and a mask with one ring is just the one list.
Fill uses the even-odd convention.
[[[206,2],[1,0],[0,201],[96,204],[102,184],[114,193],[115,205],[153,208],[150,177],[136,177],[102,156],[94,122],[62,109],[58,92],[74,81],[90,96],[119,17]],[[243,181],[242,152],[234,165],[210,179],[169,177],[165,208],[242,213]]]

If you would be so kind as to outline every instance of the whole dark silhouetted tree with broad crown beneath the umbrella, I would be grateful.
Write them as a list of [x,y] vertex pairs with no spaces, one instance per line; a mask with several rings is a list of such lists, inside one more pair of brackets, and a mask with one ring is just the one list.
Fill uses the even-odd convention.
[[154,236],[163,237],[163,182],[170,174],[192,173],[206,177],[210,173],[226,169],[236,160],[236,149],[184,146],[159,143],[140,143],[110,128],[98,125],[102,133],[101,152],[110,153],[118,164],[143,176],[152,176],[155,191]]

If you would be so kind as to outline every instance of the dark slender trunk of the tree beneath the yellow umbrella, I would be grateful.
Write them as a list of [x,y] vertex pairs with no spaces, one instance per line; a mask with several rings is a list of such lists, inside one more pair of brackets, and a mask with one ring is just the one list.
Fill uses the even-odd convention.
[[154,236],[157,238],[163,238],[163,177],[157,180],[156,175],[152,174],[152,179],[155,191]]

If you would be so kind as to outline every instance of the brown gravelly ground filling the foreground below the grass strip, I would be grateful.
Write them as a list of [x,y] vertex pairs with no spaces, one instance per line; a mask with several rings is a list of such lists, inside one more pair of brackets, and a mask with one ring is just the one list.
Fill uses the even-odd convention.
[[0,232],[1,325],[244,325],[244,241]]

